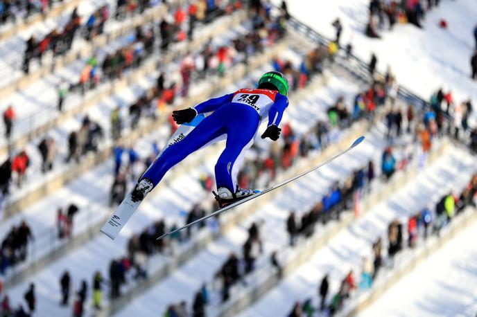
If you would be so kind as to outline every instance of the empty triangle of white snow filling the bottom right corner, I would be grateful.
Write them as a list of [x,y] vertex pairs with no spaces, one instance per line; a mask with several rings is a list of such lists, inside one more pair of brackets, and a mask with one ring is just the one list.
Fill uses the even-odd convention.
[[476,316],[477,224],[447,242],[359,316]]

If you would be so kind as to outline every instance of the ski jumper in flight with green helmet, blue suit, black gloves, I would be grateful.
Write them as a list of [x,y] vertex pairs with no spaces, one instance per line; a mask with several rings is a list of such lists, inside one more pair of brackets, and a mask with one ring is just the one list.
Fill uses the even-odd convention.
[[[268,118],[268,127],[261,138],[277,141],[278,127],[288,106],[288,82],[277,71],[261,76],[257,89],[239,89],[219,98],[212,98],[196,107],[173,111],[178,125],[190,123],[198,114],[212,112],[185,138],[162,152],[139,179],[132,191],[132,201],[141,201],[161,181],[164,174],[189,154],[224,136],[225,150],[215,165],[216,199],[221,206],[248,197],[257,191],[240,188],[236,183],[243,155],[254,143],[262,120]],[[215,194],[215,193],[214,193]]]

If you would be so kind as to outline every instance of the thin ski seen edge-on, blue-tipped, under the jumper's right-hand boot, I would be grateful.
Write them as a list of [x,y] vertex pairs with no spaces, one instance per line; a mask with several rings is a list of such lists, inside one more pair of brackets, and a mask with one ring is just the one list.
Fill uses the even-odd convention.
[[343,154],[346,154],[347,152],[349,152],[350,150],[354,149],[354,147],[358,146],[361,142],[363,142],[363,140],[365,139],[364,136],[360,136],[359,138],[356,139],[356,141],[354,141],[354,143],[352,145],[350,145],[346,150],[343,150],[342,152],[336,154],[335,156],[333,156],[331,159],[327,160],[327,161],[324,161],[323,163],[321,163],[320,165],[317,165],[315,167],[312,167],[310,170],[307,170],[305,172],[303,172],[302,174],[298,174],[297,176],[293,176],[291,179],[287,179],[286,181],[282,181],[281,183],[277,183],[277,185],[275,186],[272,186],[270,188],[267,188],[266,190],[263,190],[261,192],[258,192],[257,194],[253,194],[252,196],[249,196],[249,197],[246,197],[244,199],[241,199],[239,201],[236,201],[235,203],[232,203],[230,204],[229,206],[225,206],[224,208],[220,208],[219,210],[216,210],[215,212],[212,212],[210,215],[207,215],[205,217],[202,217],[200,219],[197,219],[196,221],[192,221],[190,224],[187,224],[185,226],[182,226],[180,228],[177,228],[175,230],[172,230],[168,233],[165,233],[164,235],[158,237],[156,240],[159,240],[159,239],[162,239],[163,237],[166,237],[168,235],[172,235],[173,233],[177,233],[177,231],[180,231],[182,229],[185,229],[189,226],[193,226],[194,224],[197,224],[198,222],[200,221],[204,221],[205,219],[208,219],[210,217],[214,217],[218,214],[220,214],[221,212],[224,212],[224,211],[227,211],[227,210],[230,210],[238,205],[241,205],[242,203],[246,203],[247,201],[250,201],[252,199],[255,199],[255,198],[258,198],[260,197],[261,195],[263,194],[266,194],[267,192],[271,192],[272,190],[276,190],[277,188],[280,188],[281,186],[283,185],[286,185],[292,181],[295,181],[296,179],[299,179],[300,177],[306,175],[306,174],[309,174],[311,172],[313,172],[314,170],[318,170],[318,168],[324,166],[324,165],[327,165],[328,163],[338,159],[338,157],[342,156]]

